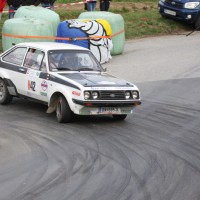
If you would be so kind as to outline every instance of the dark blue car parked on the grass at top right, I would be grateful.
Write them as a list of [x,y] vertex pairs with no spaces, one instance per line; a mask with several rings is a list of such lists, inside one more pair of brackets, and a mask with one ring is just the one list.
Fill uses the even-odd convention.
[[188,22],[200,29],[200,1],[160,0],[158,10],[162,16]]

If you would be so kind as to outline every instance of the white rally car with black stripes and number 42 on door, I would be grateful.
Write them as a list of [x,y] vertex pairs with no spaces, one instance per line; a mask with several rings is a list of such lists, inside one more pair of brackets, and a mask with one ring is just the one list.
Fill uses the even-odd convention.
[[90,50],[55,42],[21,43],[1,54],[0,104],[13,97],[47,104],[58,122],[74,114],[123,120],[141,104],[137,86],[106,73]]

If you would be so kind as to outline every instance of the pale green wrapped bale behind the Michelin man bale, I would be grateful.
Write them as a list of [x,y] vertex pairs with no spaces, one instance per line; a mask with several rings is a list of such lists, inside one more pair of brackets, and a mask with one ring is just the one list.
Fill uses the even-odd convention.
[[123,53],[125,45],[124,19],[120,14],[105,11],[83,12],[78,19],[104,19],[107,20],[112,29],[113,48],[111,55],[118,55]]

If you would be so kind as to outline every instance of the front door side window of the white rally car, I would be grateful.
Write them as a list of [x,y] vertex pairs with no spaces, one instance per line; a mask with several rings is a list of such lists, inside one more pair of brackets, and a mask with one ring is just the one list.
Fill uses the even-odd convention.
[[43,64],[44,52],[30,48],[26,55],[24,66],[35,70],[40,70]]

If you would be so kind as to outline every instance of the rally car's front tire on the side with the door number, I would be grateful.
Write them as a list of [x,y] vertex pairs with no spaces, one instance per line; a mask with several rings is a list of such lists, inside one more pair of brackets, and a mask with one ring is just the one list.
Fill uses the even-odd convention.
[[64,96],[58,98],[56,106],[56,118],[59,123],[72,121],[73,113]]

